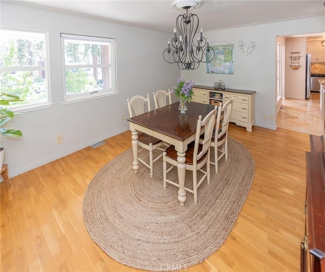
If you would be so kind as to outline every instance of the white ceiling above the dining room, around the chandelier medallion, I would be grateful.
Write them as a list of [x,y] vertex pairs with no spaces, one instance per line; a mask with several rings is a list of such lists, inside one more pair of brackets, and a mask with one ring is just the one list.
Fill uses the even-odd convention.
[[[169,0],[32,0],[3,1],[39,7],[100,20],[172,32],[176,18],[184,10]],[[325,15],[324,0],[314,1],[212,1],[203,0],[192,9],[200,18],[203,30],[235,27],[292,18]]]

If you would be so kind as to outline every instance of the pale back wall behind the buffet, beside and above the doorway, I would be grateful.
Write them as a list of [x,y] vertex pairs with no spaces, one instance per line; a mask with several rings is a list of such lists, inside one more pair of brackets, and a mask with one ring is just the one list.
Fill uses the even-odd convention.
[[[200,13],[197,14],[200,17]],[[181,75],[185,79],[192,78],[198,85],[213,86],[213,82],[221,79],[226,88],[255,90],[256,125],[276,129],[276,37],[324,31],[324,16],[208,31],[204,36],[211,45],[224,44],[213,43],[223,40],[235,45],[235,74],[206,74],[205,65],[200,65],[198,70],[182,71]],[[255,42],[251,55],[239,50],[238,41],[242,40]],[[263,118],[264,114],[268,119]]]

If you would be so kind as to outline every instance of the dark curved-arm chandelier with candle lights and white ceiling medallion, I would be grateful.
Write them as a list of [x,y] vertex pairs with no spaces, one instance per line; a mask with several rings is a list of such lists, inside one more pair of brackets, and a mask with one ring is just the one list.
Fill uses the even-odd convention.
[[[164,50],[163,57],[168,63],[177,63],[181,70],[198,69],[200,62],[209,62],[215,55],[214,50],[209,47],[208,39],[202,35],[202,27],[200,35],[196,37],[199,28],[198,15],[188,12],[188,10],[197,8],[201,4],[201,0],[176,0],[173,2],[174,8],[184,9],[186,13],[177,17],[177,29],[174,27],[174,38],[172,41],[168,39],[168,47]],[[202,60],[204,56],[207,57],[207,61]]]

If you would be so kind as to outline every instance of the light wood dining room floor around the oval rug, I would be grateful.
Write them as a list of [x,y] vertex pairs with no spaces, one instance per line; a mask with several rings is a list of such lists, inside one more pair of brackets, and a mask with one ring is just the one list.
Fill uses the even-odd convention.
[[[255,160],[252,188],[222,247],[187,271],[299,271],[308,134],[234,124],[229,133]],[[1,271],[140,271],[107,256],[84,226],[87,185],[131,148],[131,133],[105,142],[1,183]]]

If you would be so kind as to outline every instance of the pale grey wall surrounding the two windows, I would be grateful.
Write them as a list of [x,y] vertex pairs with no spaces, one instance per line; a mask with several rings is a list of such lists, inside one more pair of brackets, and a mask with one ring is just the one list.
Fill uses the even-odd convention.
[[[149,93],[154,105],[152,92],[171,88],[180,76],[177,66],[162,57],[168,33],[8,3],[0,5],[2,27],[48,31],[53,103],[52,108],[26,112],[8,123],[8,128],[23,132],[22,138],[1,139],[10,177],[126,131],[128,121],[122,121],[122,114],[128,117],[126,98]],[[62,104],[61,32],[116,39],[117,95]],[[57,134],[63,135],[63,143],[56,144]]]

